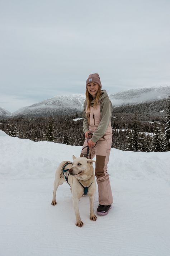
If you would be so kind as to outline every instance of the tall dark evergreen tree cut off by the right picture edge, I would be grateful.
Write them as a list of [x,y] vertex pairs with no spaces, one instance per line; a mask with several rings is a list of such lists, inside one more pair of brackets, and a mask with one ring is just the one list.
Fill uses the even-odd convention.
[[165,151],[170,151],[170,96],[168,97],[168,105],[167,105],[167,116],[166,116],[166,126],[165,126]]

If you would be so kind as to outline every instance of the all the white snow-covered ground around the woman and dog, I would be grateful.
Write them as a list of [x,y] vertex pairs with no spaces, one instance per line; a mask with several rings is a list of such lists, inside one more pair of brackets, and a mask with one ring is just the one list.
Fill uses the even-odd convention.
[[56,206],[51,200],[56,167],[80,151],[0,131],[0,256],[169,256],[170,152],[112,149],[113,208],[91,221],[89,198],[82,197],[79,228],[66,183],[57,190]]

